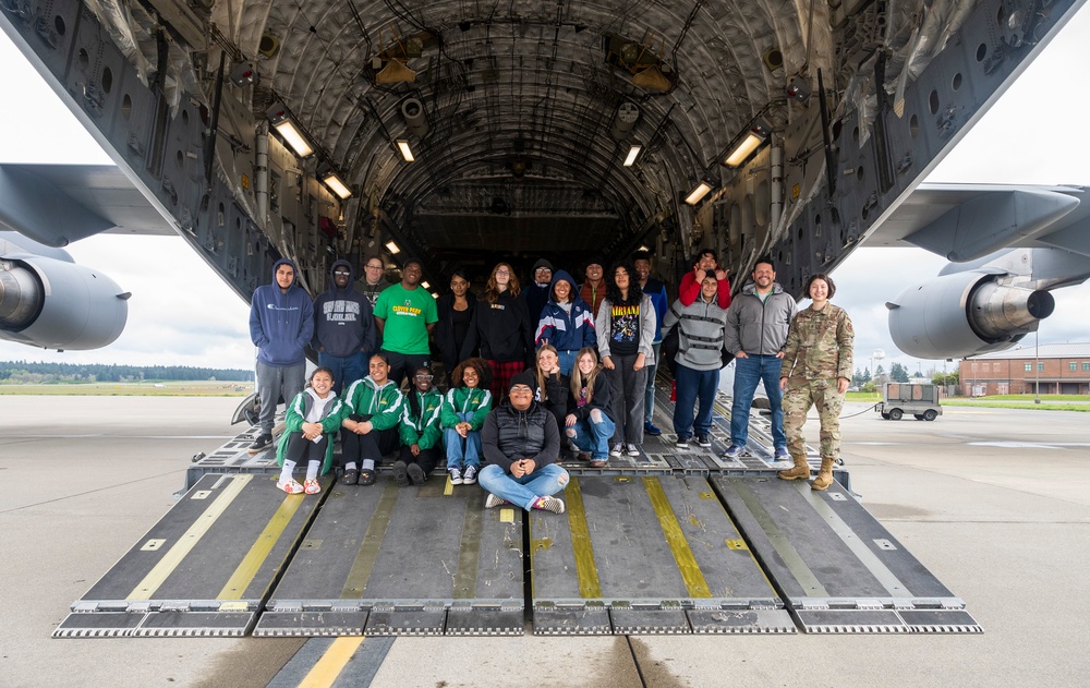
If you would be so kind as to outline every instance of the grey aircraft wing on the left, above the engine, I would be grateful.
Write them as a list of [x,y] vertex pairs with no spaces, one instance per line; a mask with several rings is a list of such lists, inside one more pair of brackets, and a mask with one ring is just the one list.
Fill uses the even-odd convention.
[[49,246],[101,232],[177,234],[112,165],[0,165],[0,225]]

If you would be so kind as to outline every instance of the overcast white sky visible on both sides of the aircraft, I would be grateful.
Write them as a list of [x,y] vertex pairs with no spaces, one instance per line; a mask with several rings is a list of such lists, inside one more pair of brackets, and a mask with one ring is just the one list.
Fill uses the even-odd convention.
[[[1090,10],[1083,9],[928,181],[1090,185],[1090,90],[1078,81],[1088,63]],[[9,94],[0,108],[0,161],[111,162],[2,32],[0,64],[0,93]],[[95,237],[69,252],[133,293],[124,334],[105,349],[63,353],[0,341],[0,360],[253,367],[249,305],[182,239]],[[833,274],[834,301],[855,324],[859,367],[881,349],[887,370],[891,361],[910,372],[942,369],[897,351],[884,304],[943,265],[922,250],[860,249]],[[1090,286],[1053,293],[1056,311],[1041,326],[1042,343],[1090,340],[1083,305]]]

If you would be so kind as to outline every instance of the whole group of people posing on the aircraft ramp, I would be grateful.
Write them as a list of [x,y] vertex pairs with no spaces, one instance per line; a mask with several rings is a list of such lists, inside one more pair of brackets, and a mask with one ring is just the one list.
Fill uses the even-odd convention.
[[[581,285],[538,261],[524,289],[511,265],[499,263],[480,300],[460,270],[451,276],[450,293],[436,301],[420,285],[420,261],[407,259],[395,283],[385,282],[377,256],[364,269],[358,281],[352,264],[337,261],[328,290],[312,303],[294,264],[281,259],[272,283],[254,292],[261,433],[250,450],[271,446],[282,396],[288,411],[277,486],[290,494],[320,491],[317,476],[330,470],[340,433],[343,483],[374,483],[384,455],[397,452],[399,484],[424,482],[445,459],[451,484],[480,481],[489,493],[487,506],[560,512],[564,503],[554,495],[568,481],[559,466],[562,447],[604,467],[610,457],[639,456],[645,433],[662,433],[653,419],[655,365],[664,336],[675,328],[679,447],[693,436],[711,446],[712,401],[729,353],[737,374],[727,456],[737,457],[746,445],[749,407],[763,379],[776,456],[796,463],[782,476],[809,476],[801,422],[813,403],[823,420],[815,486],[827,472],[826,455],[831,471],[839,435],[825,425],[850,378],[851,325],[827,303],[835,289],[827,276],[811,278],[814,303],[796,317],[795,300],[775,282],[768,259],[758,262],[731,305],[727,273],[711,251],[685,275],[673,305],[651,276],[646,252],[608,273],[592,258]],[[433,339],[447,376],[445,394],[431,366]],[[304,389],[307,346],[319,366]],[[300,484],[293,471],[303,461]]]

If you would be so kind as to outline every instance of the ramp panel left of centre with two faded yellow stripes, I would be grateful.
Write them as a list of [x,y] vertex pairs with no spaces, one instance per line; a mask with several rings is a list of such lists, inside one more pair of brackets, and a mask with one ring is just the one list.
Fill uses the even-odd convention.
[[255,636],[522,635],[521,509],[441,473],[335,486]]

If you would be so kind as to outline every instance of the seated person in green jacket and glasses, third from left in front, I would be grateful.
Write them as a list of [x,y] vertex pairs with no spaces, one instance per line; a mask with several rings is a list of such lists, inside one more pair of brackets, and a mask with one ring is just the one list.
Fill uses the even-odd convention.
[[439,429],[443,395],[432,381],[432,369],[422,365],[412,376],[413,389],[401,411],[401,458],[393,462],[393,480],[402,487],[420,485],[439,462],[443,431]]

